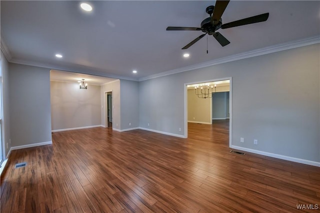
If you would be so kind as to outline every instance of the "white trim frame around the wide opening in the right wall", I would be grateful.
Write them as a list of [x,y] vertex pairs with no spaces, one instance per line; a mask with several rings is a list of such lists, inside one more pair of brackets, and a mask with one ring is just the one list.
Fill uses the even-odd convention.
[[204,80],[204,81],[196,81],[196,82],[184,83],[184,138],[188,137],[188,110],[187,110],[187,105],[188,105],[187,97],[188,96],[187,96],[187,85],[189,85],[189,84],[206,83],[206,82],[211,82],[211,81],[223,81],[223,80],[230,80],[230,91],[229,91],[229,147],[231,147],[231,141],[232,141],[232,77],[216,78],[216,79],[211,79],[211,80],[208,79],[208,80]]

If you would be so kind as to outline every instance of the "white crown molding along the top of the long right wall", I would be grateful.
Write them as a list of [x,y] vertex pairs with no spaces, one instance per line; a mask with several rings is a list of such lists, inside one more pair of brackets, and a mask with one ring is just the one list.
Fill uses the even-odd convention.
[[186,71],[190,71],[190,70],[194,70],[194,69],[200,69],[200,68],[204,68],[204,67],[208,67],[208,66],[213,66],[216,64],[226,63],[226,62],[240,60],[240,59],[244,59],[244,58],[255,57],[255,56],[259,56],[259,55],[265,55],[265,54],[269,54],[269,53],[273,53],[273,52],[279,52],[279,51],[283,51],[283,50],[287,50],[287,49],[293,49],[293,48],[312,45],[312,44],[316,44],[316,43],[320,43],[320,36],[314,36],[314,37],[304,38],[304,39],[300,39],[300,40],[289,41],[289,42],[285,42],[285,43],[281,43],[281,44],[277,44],[277,45],[272,45],[272,46],[268,46],[268,47],[264,47],[264,48],[260,48],[260,49],[255,49],[255,50],[251,50],[251,51],[247,51],[247,52],[242,52],[239,54],[226,56],[223,58],[218,58],[218,59],[204,62],[204,63],[181,67],[181,68],[157,73],[154,75],[149,75],[149,76],[146,76],[143,78],[139,78],[139,81],[149,80],[152,78],[158,78],[158,77],[162,77],[162,76],[166,76],[166,75],[172,75],[172,74],[176,74],[176,73],[180,73],[180,72],[186,72]]

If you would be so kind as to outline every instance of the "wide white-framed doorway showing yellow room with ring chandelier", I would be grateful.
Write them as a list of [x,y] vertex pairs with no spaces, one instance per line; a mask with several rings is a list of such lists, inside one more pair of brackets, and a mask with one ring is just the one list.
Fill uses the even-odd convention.
[[[193,128],[190,130],[192,135],[194,135],[194,130],[215,131],[221,126],[224,135],[228,135],[225,139],[228,137],[230,147],[232,131],[231,77],[185,83],[184,86],[184,137],[188,137],[188,126]],[[203,90],[203,93],[201,93],[201,87],[206,88],[206,91],[209,91],[206,93],[209,95],[203,95],[205,91]],[[217,98],[223,100],[220,100],[220,102]],[[214,106],[215,104],[218,104],[218,106]],[[217,107],[221,109],[217,109]],[[202,133],[199,132],[198,135],[202,135]]]

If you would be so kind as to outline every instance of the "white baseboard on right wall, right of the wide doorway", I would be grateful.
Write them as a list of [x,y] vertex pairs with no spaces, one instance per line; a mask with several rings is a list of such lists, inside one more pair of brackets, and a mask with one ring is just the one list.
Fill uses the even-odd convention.
[[231,145],[230,148],[245,151],[245,152],[250,152],[250,153],[254,153],[254,154],[264,155],[264,156],[268,156],[268,157],[272,157],[272,158],[278,158],[278,159],[282,159],[282,160],[287,160],[287,161],[292,161],[292,162],[296,162],[296,163],[320,167],[320,162],[309,161],[309,160],[304,160],[304,159],[300,159],[300,158],[293,158],[293,157],[273,154],[273,153],[269,153],[269,152],[262,152],[262,151],[258,151],[258,150],[253,150],[253,149],[248,149],[248,148],[243,148],[243,147],[238,147],[238,146],[233,146],[233,145]]

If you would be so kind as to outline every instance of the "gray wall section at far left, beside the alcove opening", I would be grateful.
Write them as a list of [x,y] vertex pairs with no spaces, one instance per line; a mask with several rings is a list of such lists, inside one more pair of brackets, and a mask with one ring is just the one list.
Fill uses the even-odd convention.
[[9,63],[11,146],[51,141],[49,69]]

